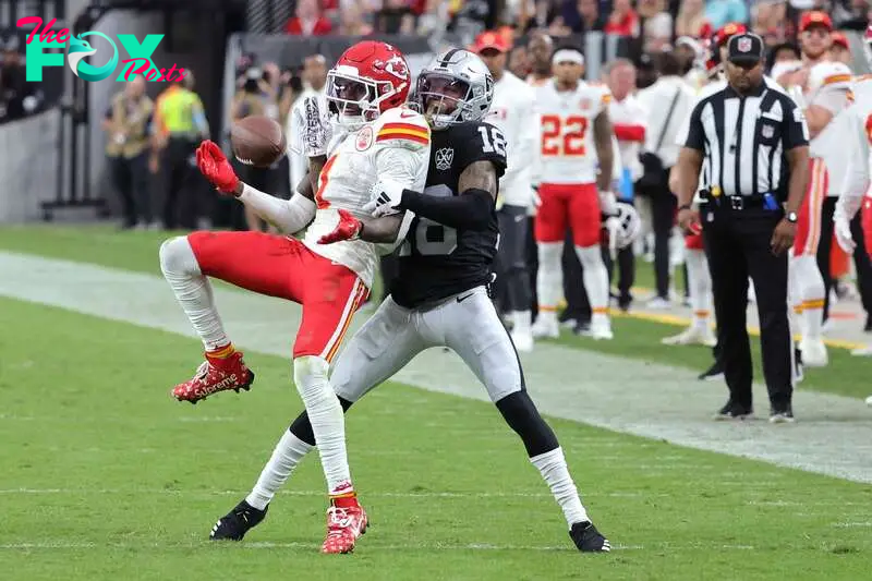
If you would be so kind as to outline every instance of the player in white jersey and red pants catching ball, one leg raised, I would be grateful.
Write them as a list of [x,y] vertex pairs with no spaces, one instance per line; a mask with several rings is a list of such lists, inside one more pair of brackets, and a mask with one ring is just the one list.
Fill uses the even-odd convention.
[[[308,101],[307,156],[318,160],[327,154],[329,159],[320,168],[317,185],[311,177],[320,164],[311,164],[310,180],[288,202],[240,182],[213,142],[197,149],[201,172],[220,192],[235,195],[283,233],[308,226],[303,241],[261,232],[194,232],[168,240],[160,249],[164,276],[206,349],[206,361],[194,377],[173,389],[180,401],[194,403],[217,391],[247,389],[254,380],[223,330],[209,277],[302,305],[293,379],[312,417],[327,479],[330,507],[323,553],[351,552],[367,523],[351,484],[342,407],[328,370],[368,293],[378,249],[362,240],[320,241],[341,228],[339,210],[366,215],[362,208],[379,179],[389,177],[407,187],[423,189],[429,125],[423,116],[402,107],[410,83],[405,59],[392,46],[366,40],[349,48],[328,74],[327,100],[338,132],[326,146],[328,132],[320,126],[317,101]],[[257,508],[257,498],[249,501]]]

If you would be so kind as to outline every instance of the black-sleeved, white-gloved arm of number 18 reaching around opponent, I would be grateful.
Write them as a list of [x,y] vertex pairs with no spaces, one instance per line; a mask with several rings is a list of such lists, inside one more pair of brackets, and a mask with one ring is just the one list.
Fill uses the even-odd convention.
[[373,202],[364,206],[364,210],[388,206],[412,211],[450,228],[485,230],[496,204],[497,183],[497,170],[491,160],[467,166],[458,180],[459,196],[426,195],[382,180],[374,189]]

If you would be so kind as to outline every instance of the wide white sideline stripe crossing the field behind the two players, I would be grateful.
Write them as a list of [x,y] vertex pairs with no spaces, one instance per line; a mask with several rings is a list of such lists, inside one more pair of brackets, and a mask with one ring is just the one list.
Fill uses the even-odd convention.
[[[194,336],[166,282],[153,275],[2,251],[0,273],[0,295]],[[215,289],[215,296],[237,344],[287,359],[287,346],[300,319],[296,305],[221,288]],[[352,327],[363,318],[355,317]],[[199,350],[192,346],[191,366],[179,370],[180,378],[198,359]],[[724,403],[726,390],[714,382],[698,382],[688,370],[549,343],[537,343],[535,352],[522,360],[530,392],[546,414],[872,483],[872,413],[859,399],[800,389],[794,401],[796,424],[713,422],[712,413]],[[441,349],[421,353],[395,379],[488,401],[460,359]],[[765,388],[755,385],[754,394],[758,412],[765,413]],[[166,390],[156,389],[154,397],[165,398]],[[175,413],[193,416],[201,408]],[[573,449],[584,450],[584,443],[574,444]]]

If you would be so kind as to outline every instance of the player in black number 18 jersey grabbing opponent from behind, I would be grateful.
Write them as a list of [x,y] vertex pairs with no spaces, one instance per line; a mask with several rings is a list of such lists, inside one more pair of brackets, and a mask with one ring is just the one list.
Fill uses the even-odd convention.
[[[514,347],[487,293],[499,237],[497,186],[506,169],[506,140],[482,121],[493,86],[474,53],[450,49],[438,55],[419,76],[413,97],[433,128],[424,192],[383,180],[370,203],[374,219],[361,221],[339,210],[339,227],[320,240],[387,243],[409,229],[390,295],[351,338],[330,383],[348,410],[421,351],[450,348],[521,437],[560,505],[576,546],[607,552],[609,542],[591,523],[557,437],[526,392]],[[211,537],[241,540],[261,522],[266,509],[255,509],[249,499],[262,505],[271,499],[314,444],[303,413],[276,446],[250,497],[218,521]]]

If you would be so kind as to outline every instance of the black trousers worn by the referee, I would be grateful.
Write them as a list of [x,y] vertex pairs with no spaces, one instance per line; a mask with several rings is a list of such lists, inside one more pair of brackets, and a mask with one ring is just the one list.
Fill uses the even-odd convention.
[[[724,202],[729,204],[728,199]],[[713,202],[710,204],[714,206]],[[746,322],[750,275],[756,291],[763,375],[770,403],[774,410],[784,410],[790,406],[794,391],[787,253],[775,256],[770,247],[783,213],[713,207],[703,208],[701,217],[729,403],[744,412],[753,409],[751,344]]]

